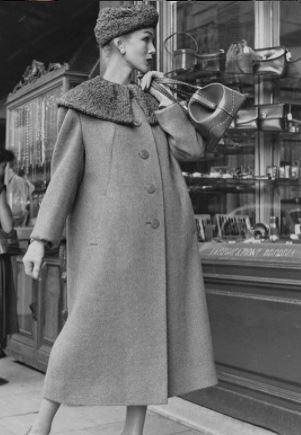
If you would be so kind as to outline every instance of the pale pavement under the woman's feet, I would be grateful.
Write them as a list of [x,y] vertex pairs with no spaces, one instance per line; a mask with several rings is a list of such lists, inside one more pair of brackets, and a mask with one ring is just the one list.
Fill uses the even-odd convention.
[[[25,435],[39,408],[44,374],[0,359],[0,435]],[[196,411],[196,412],[195,412]],[[196,418],[197,417],[197,418]],[[61,407],[52,432],[60,435],[120,435],[125,407]],[[181,399],[149,408],[145,435],[271,435]]]

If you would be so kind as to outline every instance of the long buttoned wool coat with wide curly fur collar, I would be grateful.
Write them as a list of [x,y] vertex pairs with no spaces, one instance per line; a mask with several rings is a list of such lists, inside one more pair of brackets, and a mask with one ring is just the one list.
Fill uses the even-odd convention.
[[147,405],[216,383],[196,226],[177,160],[204,152],[180,106],[96,77],[59,102],[32,238],[67,220],[69,316],[44,397]]

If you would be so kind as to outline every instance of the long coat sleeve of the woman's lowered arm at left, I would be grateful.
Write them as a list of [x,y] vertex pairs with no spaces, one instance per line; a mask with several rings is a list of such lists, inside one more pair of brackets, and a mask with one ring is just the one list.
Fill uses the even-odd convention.
[[60,242],[84,168],[84,146],[80,117],[76,111],[59,108],[58,136],[51,162],[51,180],[42,200],[32,239],[53,246]]

